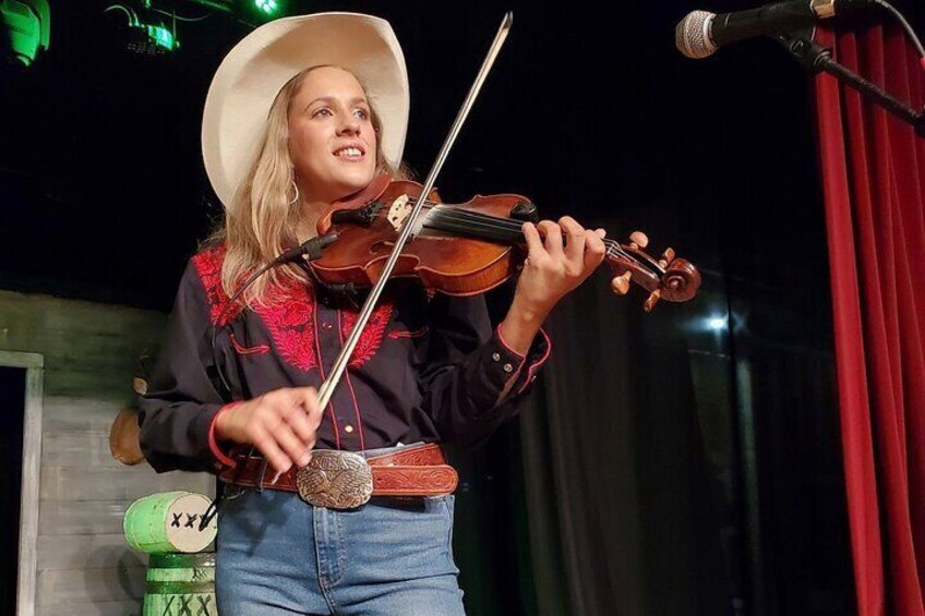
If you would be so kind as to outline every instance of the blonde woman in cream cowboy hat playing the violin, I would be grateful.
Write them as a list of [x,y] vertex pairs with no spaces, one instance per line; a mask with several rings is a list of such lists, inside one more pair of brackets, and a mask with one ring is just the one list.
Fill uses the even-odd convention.
[[[209,89],[203,153],[226,221],[183,275],[141,422],[155,469],[219,472],[237,494],[219,512],[223,614],[463,614],[455,473],[434,444],[477,443],[516,412],[549,353],[543,319],[603,258],[602,231],[526,224],[528,258],[494,329],[481,298],[393,283],[319,408],[356,311],[303,265],[229,297],[313,237],[332,203],[399,173],[408,99],[388,24],[345,13],[256,29]],[[253,455],[229,452],[240,446]],[[313,451],[338,464],[361,452],[372,498],[300,498],[322,476]]]

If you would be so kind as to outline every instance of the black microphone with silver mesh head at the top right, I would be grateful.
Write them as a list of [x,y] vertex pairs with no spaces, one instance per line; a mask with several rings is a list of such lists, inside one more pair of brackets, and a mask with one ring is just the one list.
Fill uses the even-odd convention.
[[786,0],[757,9],[720,13],[692,11],[674,28],[674,45],[688,58],[706,58],[723,45],[753,36],[785,34],[812,26],[876,0]]

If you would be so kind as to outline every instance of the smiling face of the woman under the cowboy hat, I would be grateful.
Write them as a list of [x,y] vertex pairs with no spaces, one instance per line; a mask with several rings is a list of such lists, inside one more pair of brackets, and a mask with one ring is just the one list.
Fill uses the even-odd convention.
[[376,169],[367,95],[334,67],[305,75],[289,106],[289,156],[308,202],[332,203],[367,186]]

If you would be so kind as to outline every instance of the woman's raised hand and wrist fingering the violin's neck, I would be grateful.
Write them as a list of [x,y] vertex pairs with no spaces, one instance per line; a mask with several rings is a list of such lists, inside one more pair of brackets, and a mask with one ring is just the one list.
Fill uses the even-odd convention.
[[555,304],[584,282],[606,253],[604,230],[585,229],[570,216],[558,222],[525,222],[522,230],[527,261],[502,324],[505,341],[518,352],[526,352]]

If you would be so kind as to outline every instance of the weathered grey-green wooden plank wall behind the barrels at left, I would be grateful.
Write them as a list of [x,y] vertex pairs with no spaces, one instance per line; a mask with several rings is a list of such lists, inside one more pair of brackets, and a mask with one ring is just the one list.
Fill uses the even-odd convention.
[[156,352],[160,313],[0,291],[0,350],[44,357],[35,613],[141,614],[147,556],[122,516],[136,498],[188,490],[212,496],[206,474],[157,474],[109,452],[109,426],[135,403],[132,377]]

